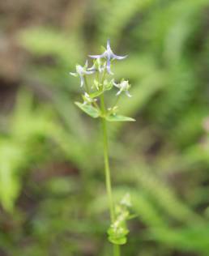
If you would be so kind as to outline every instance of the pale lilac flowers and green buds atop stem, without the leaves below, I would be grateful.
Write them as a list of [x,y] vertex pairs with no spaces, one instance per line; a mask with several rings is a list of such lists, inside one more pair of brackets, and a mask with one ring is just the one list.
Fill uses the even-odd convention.
[[[109,91],[113,87],[118,89],[116,93],[117,98],[122,92],[125,92],[126,96],[130,97],[130,83],[128,80],[122,79],[120,83],[116,83],[113,78],[107,78],[108,75],[113,75],[113,71],[111,70],[112,62],[115,59],[122,60],[126,58],[127,55],[118,56],[113,53],[108,40],[104,53],[101,53],[100,55],[89,55],[89,57],[93,58],[92,66],[88,66],[88,62],[86,61],[84,66],[77,64],[75,66],[75,72],[70,72],[70,75],[79,77],[81,87],[85,86],[83,105],[91,105],[92,108],[100,111],[100,106],[97,105],[96,101],[98,100],[96,98],[100,97],[105,91]],[[88,85],[89,81],[87,80],[88,75],[95,75],[95,79],[91,80],[90,87]],[[109,107],[107,112],[113,114],[114,109],[117,109],[116,105]],[[83,111],[86,112],[85,110]]]

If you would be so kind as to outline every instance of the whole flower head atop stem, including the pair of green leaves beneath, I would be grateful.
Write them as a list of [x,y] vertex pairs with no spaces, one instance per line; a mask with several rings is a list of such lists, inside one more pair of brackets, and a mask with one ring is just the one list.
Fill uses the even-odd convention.
[[[89,55],[89,57],[93,59],[92,66],[88,66],[88,62],[86,61],[84,66],[78,64],[75,66],[75,72],[70,72],[70,75],[79,77],[80,86],[85,87],[83,104],[79,102],[76,102],[75,104],[92,117],[105,116],[108,121],[134,121],[130,117],[117,116],[116,118],[118,98],[121,96],[122,92],[125,92],[126,96],[130,97],[130,83],[125,79],[122,79],[120,83],[116,83],[113,77],[111,77],[113,75],[113,71],[111,70],[113,61],[122,60],[126,58],[127,55],[118,56],[113,53],[108,40],[104,53],[101,53],[100,55]],[[90,80],[90,86],[87,79],[88,75],[95,75],[95,79]],[[104,110],[104,104],[102,104],[103,94],[113,87],[116,87],[118,90],[116,93],[117,100],[114,105]],[[100,100],[98,100],[97,97],[99,97]]]

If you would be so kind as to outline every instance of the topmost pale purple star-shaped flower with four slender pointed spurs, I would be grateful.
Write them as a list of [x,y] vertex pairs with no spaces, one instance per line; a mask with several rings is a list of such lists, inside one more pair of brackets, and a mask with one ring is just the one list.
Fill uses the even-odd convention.
[[107,70],[109,74],[113,75],[113,72],[110,70],[110,64],[111,64],[111,59],[117,59],[117,60],[122,60],[127,57],[126,56],[118,56],[115,53],[113,53],[112,49],[110,48],[109,40],[107,41],[107,49],[104,51],[104,53],[100,55],[89,55],[91,58],[106,58],[107,59]]

